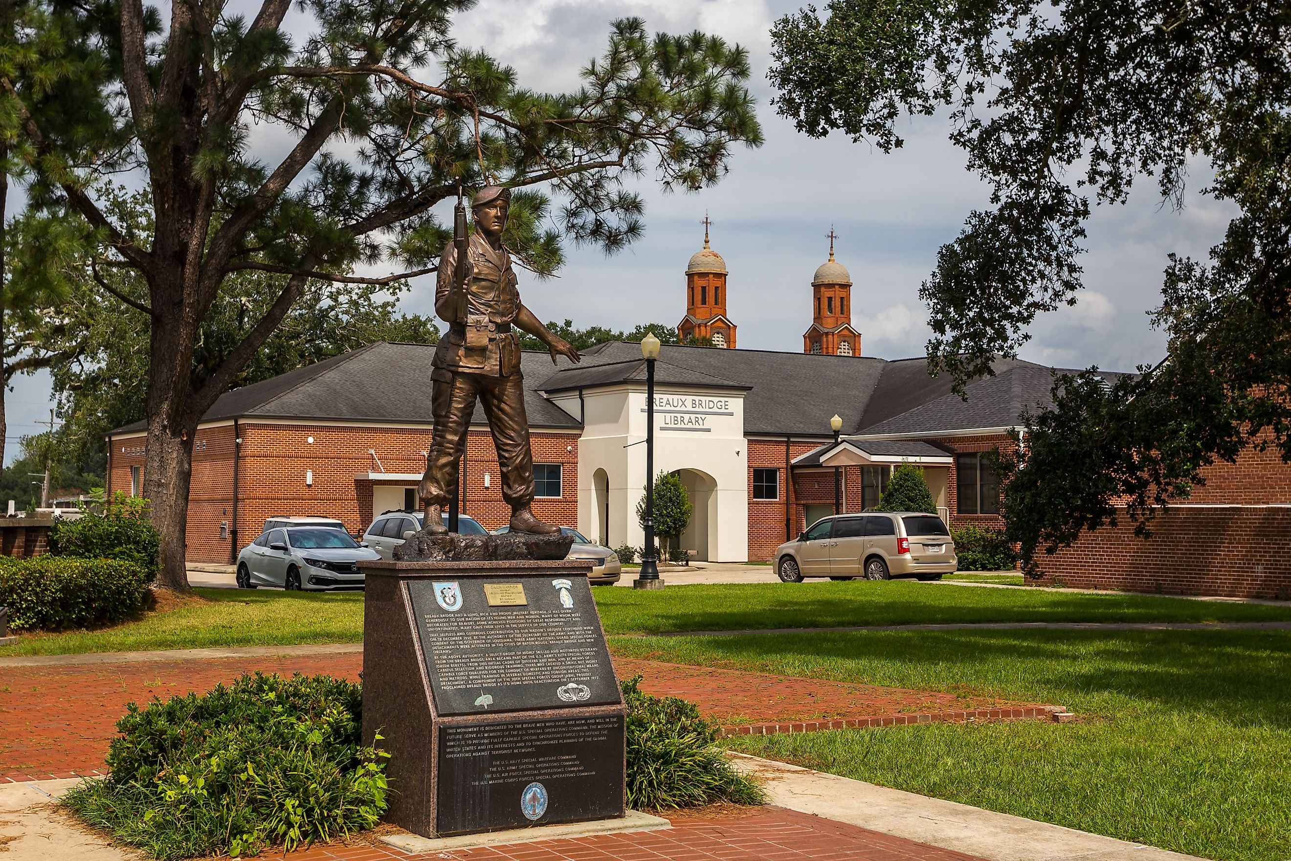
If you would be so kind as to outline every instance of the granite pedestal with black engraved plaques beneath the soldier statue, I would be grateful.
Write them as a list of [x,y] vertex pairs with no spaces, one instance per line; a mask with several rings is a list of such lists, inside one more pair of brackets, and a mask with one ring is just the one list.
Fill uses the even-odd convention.
[[423,836],[624,816],[624,701],[578,562],[364,564],[363,737]]

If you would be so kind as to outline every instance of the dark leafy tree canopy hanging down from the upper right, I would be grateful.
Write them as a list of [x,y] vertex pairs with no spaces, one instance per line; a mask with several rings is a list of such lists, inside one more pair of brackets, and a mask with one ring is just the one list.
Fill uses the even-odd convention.
[[1282,0],[831,0],[773,31],[781,114],[887,152],[904,115],[949,108],[950,139],[993,188],[923,284],[935,370],[959,386],[1074,303],[1084,222],[1140,177],[1184,205],[1189,161],[1229,201],[1210,261],[1171,257],[1154,324],[1166,358],[1108,386],[1055,383],[1003,465],[1008,534],[1030,564],[1082,529],[1140,533],[1216,458],[1291,460],[1291,5]]

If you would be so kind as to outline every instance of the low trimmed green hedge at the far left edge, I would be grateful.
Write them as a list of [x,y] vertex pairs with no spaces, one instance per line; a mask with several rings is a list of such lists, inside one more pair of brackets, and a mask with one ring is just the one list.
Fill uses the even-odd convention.
[[17,631],[112,625],[143,609],[155,574],[112,559],[0,556],[0,607]]

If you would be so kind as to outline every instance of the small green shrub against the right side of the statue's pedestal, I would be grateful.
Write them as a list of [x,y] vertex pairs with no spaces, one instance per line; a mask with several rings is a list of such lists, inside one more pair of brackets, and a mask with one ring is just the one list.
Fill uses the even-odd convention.
[[715,802],[762,804],[766,796],[727,762],[718,728],[695,704],[652,697],[642,676],[622,683],[627,702],[627,805],[634,809],[700,807]]

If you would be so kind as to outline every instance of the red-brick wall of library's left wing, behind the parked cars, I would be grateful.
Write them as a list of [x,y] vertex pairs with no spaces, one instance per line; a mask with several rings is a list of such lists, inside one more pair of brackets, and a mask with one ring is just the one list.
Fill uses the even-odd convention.
[[[337,518],[346,529],[360,533],[373,520],[373,497],[372,483],[355,480],[355,476],[381,472],[382,467],[385,472],[420,475],[426,467],[422,452],[430,448],[430,427],[247,422],[239,425],[238,432],[243,439],[238,467],[239,549],[259,534],[267,518],[276,515]],[[129,492],[130,467],[143,465],[142,447],[142,436],[112,441],[114,491]],[[536,462],[562,463],[563,472],[562,497],[534,500],[533,512],[551,523],[577,525],[577,436],[534,431],[532,447]],[[234,538],[221,532],[221,523],[229,529],[234,525],[232,452],[231,425],[199,430],[194,438],[187,529],[190,562],[230,560]],[[311,484],[306,484],[306,470],[312,471]],[[489,488],[484,487],[484,472],[489,472]],[[466,456],[465,512],[487,529],[510,518],[500,488],[492,436],[484,429],[473,430]]]

